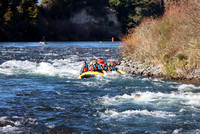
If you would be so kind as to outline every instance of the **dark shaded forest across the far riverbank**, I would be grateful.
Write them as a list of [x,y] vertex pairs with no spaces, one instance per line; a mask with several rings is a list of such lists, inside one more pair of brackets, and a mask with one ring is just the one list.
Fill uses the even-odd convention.
[[[72,22],[83,9],[103,21]],[[105,17],[109,11],[119,26]],[[163,0],[1,0],[0,41],[40,41],[43,36],[49,41],[108,40],[163,12]]]

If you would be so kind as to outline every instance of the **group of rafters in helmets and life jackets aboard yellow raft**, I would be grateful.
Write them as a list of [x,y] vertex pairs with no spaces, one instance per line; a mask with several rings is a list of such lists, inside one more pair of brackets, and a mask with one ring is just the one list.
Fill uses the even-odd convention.
[[115,67],[114,62],[108,62],[107,64],[104,63],[103,59],[99,57],[98,60],[95,60],[94,62],[90,62],[88,65],[85,61],[83,62],[83,67],[81,68],[80,74],[87,72],[87,71],[98,71],[102,72],[103,70],[106,72],[109,71],[117,71],[117,68]]

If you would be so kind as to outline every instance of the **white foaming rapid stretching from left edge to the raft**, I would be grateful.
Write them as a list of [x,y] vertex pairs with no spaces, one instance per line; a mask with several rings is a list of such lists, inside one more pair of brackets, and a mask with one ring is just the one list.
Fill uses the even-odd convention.
[[80,68],[81,63],[72,62],[71,59],[51,60],[50,63],[11,60],[0,65],[0,73],[6,75],[36,74],[78,77]]

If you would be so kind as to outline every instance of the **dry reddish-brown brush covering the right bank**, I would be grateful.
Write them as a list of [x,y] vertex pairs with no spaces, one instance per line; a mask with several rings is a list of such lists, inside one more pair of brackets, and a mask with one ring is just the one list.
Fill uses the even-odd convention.
[[144,19],[122,38],[123,56],[160,65],[171,78],[200,69],[200,1],[171,4],[162,18]]

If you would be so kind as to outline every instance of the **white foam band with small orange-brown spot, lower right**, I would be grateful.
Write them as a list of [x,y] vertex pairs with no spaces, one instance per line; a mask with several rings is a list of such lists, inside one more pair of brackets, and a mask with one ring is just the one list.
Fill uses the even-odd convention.
[[[139,97],[136,97],[138,95]],[[187,105],[190,107],[200,106],[200,93],[161,93],[161,92],[135,92],[130,95],[123,94],[114,97],[108,95],[100,97],[103,105],[151,105],[153,107],[166,108],[168,106]]]

